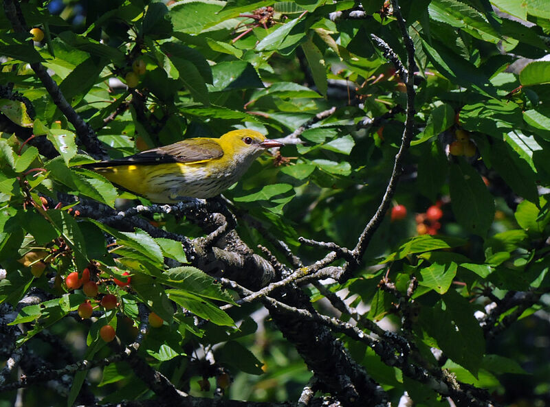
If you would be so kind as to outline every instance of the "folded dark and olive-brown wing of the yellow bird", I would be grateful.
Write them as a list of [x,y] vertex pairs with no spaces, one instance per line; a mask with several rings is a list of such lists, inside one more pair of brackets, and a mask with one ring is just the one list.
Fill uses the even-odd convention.
[[100,163],[87,164],[86,166],[98,168],[131,164],[189,164],[219,159],[221,156],[223,156],[223,150],[217,141],[199,137],[142,151],[123,159],[101,161]]

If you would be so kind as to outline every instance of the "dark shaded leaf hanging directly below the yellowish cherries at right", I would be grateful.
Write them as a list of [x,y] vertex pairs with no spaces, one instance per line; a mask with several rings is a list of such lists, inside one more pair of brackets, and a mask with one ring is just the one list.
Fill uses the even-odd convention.
[[494,199],[481,176],[464,160],[450,168],[450,196],[456,220],[484,237],[494,218]]

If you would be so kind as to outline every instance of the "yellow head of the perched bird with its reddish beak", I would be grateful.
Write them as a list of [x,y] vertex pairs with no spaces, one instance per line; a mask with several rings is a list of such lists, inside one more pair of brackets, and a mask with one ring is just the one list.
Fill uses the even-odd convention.
[[249,129],[232,130],[219,139],[223,154],[235,161],[254,161],[267,148],[282,147],[283,143],[266,139],[261,132]]

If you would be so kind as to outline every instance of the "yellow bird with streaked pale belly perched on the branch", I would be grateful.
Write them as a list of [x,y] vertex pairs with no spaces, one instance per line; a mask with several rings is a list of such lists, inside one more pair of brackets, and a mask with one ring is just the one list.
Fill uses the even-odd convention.
[[283,143],[250,129],[196,137],[83,167],[155,203],[212,198],[239,181],[267,148]]

